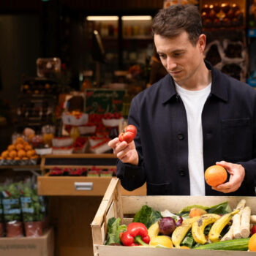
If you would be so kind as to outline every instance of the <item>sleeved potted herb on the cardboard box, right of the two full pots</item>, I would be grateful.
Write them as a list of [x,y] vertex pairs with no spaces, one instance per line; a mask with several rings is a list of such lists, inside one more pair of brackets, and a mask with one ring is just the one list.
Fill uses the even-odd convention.
[[45,217],[43,197],[37,195],[34,185],[26,184],[20,200],[26,236],[42,236],[42,221]]

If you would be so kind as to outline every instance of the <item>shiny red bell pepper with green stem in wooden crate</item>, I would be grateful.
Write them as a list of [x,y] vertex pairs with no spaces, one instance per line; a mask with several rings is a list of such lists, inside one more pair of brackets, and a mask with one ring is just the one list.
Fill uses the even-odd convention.
[[127,231],[121,234],[121,243],[124,246],[148,245],[149,241],[148,230],[140,222],[130,223],[127,226]]

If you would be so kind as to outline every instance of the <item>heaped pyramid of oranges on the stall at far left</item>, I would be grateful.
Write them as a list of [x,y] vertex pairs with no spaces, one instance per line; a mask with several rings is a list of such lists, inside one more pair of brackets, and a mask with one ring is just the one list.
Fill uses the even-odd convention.
[[22,137],[1,152],[0,165],[37,165],[39,156],[34,148]]

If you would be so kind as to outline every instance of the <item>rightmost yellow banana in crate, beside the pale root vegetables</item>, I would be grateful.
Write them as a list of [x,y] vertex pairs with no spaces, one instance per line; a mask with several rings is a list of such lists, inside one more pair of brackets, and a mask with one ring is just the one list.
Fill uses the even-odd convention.
[[217,242],[221,238],[220,233],[222,232],[225,225],[230,222],[230,219],[233,217],[233,215],[238,213],[238,209],[235,211],[230,212],[229,214],[225,214],[222,217],[220,217],[216,222],[214,222],[214,225],[212,225],[211,230],[209,232],[208,238],[212,242]]

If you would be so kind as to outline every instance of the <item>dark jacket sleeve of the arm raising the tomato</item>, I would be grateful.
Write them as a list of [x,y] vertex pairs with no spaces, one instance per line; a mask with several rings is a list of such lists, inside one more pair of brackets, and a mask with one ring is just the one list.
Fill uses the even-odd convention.
[[139,97],[136,96],[132,99],[131,107],[129,109],[128,124],[133,124],[137,128],[137,135],[135,137],[135,146],[139,155],[139,164],[131,165],[121,162],[118,159],[117,162],[117,177],[120,178],[121,185],[124,189],[132,191],[141,187],[146,181],[146,173],[143,165],[143,154],[142,154],[142,145],[140,141],[140,105]]

